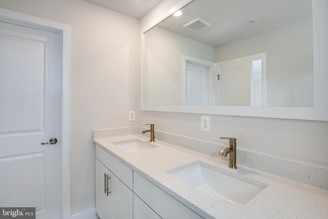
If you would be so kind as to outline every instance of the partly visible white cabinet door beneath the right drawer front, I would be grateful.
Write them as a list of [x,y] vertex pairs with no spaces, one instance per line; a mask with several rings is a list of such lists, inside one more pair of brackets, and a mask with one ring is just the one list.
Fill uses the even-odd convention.
[[133,194],[133,219],[161,219],[136,194]]

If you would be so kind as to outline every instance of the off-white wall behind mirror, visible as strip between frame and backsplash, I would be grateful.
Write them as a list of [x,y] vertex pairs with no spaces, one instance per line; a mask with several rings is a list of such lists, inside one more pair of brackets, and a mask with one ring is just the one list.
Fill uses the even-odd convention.
[[[158,16],[160,12],[168,10],[178,2],[180,1],[164,0],[154,11]],[[325,0],[321,3],[326,4]],[[156,13],[149,13],[141,18],[141,28],[147,27],[148,23],[156,19]],[[322,47],[326,48],[327,45]],[[328,69],[325,72],[328,72]],[[328,165],[328,122],[211,115],[211,132],[208,133],[200,131],[199,114],[141,111],[140,124],[145,123],[154,123],[156,129],[162,131],[224,144],[228,143],[219,140],[220,136],[233,136],[237,137],[237,147]]]

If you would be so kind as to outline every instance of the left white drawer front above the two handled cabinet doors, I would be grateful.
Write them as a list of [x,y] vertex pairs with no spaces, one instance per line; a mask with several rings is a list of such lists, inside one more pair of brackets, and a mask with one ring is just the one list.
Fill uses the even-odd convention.
[[96,157],[125,185],[133,190],[133,171],[113,155],[96,144]]

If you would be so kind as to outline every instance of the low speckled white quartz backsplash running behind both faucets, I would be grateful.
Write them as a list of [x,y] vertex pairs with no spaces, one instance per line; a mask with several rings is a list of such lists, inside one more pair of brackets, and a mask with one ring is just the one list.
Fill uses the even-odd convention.
[[[124,127],[94,130],[94,138],[115,137],[120,135],[141,134],[146,127]],[[223,160],[229,158],[219,155],[219,151],[229,145],[200,140],[198,138],[177,135],[155,130],[155,141],[159,140]],[[237,140],[238,141],[238,140]],[[237,166],[243,165],[263,172],[288,178],[299,183],[328,190],[328,167],[305,163],[287,158],[258,153],[240,148],[237,145]]]

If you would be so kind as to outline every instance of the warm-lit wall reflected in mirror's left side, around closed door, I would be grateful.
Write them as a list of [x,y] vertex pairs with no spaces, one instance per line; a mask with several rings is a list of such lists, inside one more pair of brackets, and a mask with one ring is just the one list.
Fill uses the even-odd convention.
[[182,55],[214,62],[215,48],[160,27],[145,41],[145,103],[182,105]]

